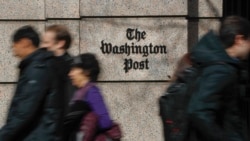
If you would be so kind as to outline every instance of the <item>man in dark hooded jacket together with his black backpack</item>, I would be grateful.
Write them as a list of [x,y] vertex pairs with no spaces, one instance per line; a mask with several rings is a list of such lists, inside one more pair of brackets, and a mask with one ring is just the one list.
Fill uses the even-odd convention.
[[250,23],[239,16],[200,39],[190,52],[192,67],[160,98],[166,141],[247,141],[239,82],[249,53]]

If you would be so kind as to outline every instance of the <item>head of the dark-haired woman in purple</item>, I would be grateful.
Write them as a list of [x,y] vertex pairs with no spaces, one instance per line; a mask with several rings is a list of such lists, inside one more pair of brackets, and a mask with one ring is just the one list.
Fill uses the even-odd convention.
[[82,87],[87,82],[96,82],[100,73],[99,62],[92,53],[84,53],[73,59],[69,77],[72,84]]

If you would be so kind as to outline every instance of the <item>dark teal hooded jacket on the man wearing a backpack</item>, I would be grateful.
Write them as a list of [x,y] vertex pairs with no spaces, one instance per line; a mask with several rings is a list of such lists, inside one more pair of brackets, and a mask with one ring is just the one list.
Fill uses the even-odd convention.
[[188,106],[192,126],[189,141],[246,141],[237,90],[240,62],[226,53],[213,32],[198,42],[191,58],[199,65],[215,64],[204,67],[194,82]]

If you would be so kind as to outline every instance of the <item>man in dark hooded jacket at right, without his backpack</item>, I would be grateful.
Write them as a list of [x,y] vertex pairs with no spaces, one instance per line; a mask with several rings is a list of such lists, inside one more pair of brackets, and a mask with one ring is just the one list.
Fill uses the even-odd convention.
[[218,35],[210,31],[191,51],[192,61],[205,67],[188,106],[190,141],[247,141],[237,89],[240,60],[249,52],[250,23],[237,16],[227,17]]

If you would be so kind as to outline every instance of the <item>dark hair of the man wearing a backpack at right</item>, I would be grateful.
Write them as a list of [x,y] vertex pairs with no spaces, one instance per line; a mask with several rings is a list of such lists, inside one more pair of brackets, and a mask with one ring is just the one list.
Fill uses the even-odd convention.
[[234,44],[235,36],[243,35],[244,39],[250,37],[250,23],[239,16],[229,16],[224,19],[219,29],[219,37],[225,48]]

